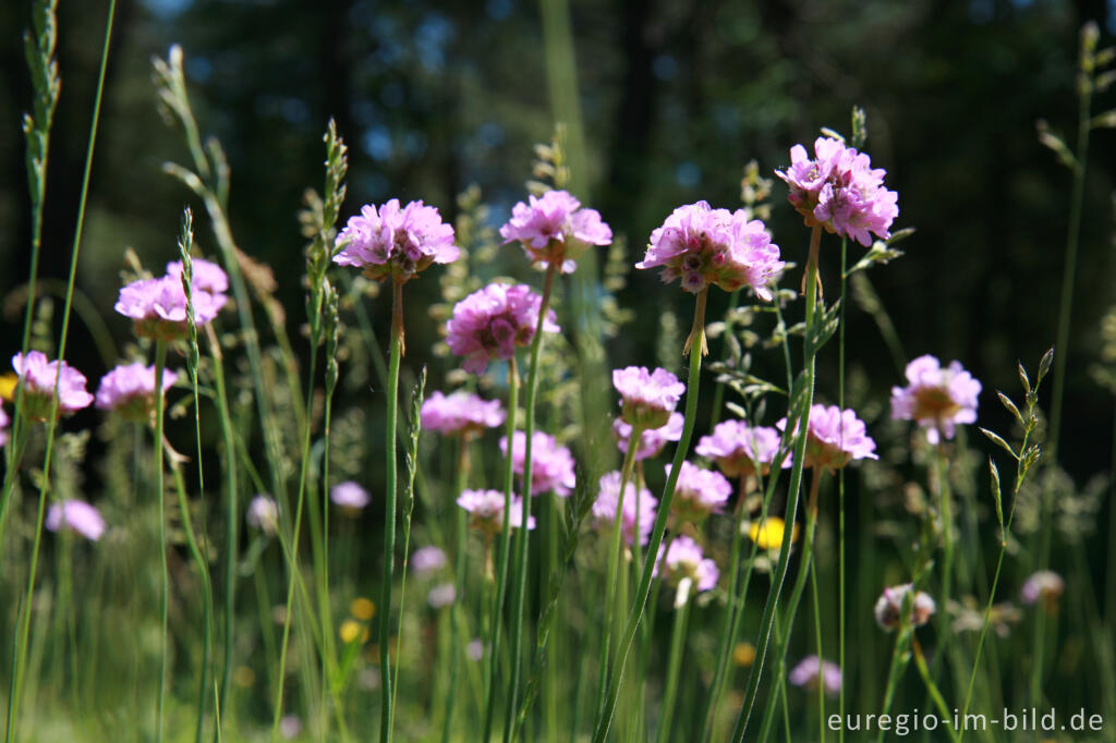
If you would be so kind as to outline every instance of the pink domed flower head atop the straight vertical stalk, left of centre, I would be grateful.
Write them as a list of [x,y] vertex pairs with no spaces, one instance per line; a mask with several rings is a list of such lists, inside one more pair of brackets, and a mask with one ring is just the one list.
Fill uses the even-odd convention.
[[378,210],[373,204],[360,208],[337,235],[334,262],[355,266],[377,281],[392,277],[404,282],[431,263],[451,263],[461,250],[453,244],[453,228],[442,222],[434,206],[412,201],[400,208],[392,199]]

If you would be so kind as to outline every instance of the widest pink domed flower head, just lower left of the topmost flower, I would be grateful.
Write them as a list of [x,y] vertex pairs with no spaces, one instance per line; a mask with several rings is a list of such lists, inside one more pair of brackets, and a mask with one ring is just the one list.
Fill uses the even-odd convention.
[[764,301],[768,284],[782,270],[779,247],[771,244],[763,222],[748,221],[743,210],[712,209],[706,202],[679,206],[651,233],[638,269],[663,267],[663,283],[682,279],[682,288],[700,293],[710,284],[725,291],[750,286]]

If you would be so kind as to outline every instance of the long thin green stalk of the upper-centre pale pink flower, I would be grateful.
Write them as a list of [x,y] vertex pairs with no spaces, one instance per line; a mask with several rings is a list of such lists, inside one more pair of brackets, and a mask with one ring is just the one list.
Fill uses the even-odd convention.
[[[531,338],[530,366],[527,370],[527,419],[523,425],[523,528],[517,533],[518,553],[516,556],[516,608],[512,612],[514,623],[511,626],[511,686],[508,692],[508,705],[504,710],[503,740],[511,740],[511,731],[516,721],[516,701],[519,698],[519,678],[523,670],[523,615],[527,611],[527,546],[531,530],[527,522],[531,515],[532,461],[531,450],[535,438],[535,398],[539,389],[539,353],[542,349],[542,326],[547,311],[550,309],[550,295],[554,291],[555,277],[558,273],[559,261],[550,261],[547,266],[547,278],[542,286],[542,301],[539,305],[539,319],[535,326],[535,337]],[[508,441],[508,459],[512,459],[512,441]]]

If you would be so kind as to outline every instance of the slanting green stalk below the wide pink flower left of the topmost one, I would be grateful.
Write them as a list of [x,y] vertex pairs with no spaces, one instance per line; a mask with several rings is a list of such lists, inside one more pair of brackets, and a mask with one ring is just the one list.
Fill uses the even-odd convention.
[[[709,289],[703,289],[698,295],[694,307],[694,324],[690,332],[690,377],[686,389],[686,413],[682,425],[682,438],[674,451],[674,462],[671,465],[671,474],[666,477],[666,485],[663,488],[663,496],[658,502],[658,514],[655,517],[655,525],[651,531],[651,540],[647,543],[646,558],[644,559],[643,573],[639,578],[639,586],[636,589],[635,602],[632,606],[632,614],[628,616],[627,628],[624,637],[617,646],[615,673],[609,681],[605,707],[597,716],[594,725],[594,743],[604,743],[608,735],[608,728],[613,722],[613,713],[616,711],[616,698],[619,694],[620,683],[624,679],[624,666],[627,664],[628,653],[632,650],[632,640],[639,629],[644,610],[647,606],[647,596],[651,594],[652,573],[658,557],[658,548],[663,543],[663,532],[666,530],[666,519],[671,513],[671,502],[674,499],[674,488],[679,482],[679,473],[682,471],[682,462],[685,461],[690,451],[690,440],[693,437],[694,423],[698,418],[698,390],[701,386],[701,350],[705,347],[705,300]],[[636,442],[638,443],[638,442]]]

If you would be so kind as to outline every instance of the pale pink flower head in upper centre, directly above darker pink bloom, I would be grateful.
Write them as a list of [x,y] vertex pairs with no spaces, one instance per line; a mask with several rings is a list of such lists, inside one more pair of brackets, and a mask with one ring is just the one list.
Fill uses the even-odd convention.
[[504,244],[518,240],[536,263],[557,263],[562,273],[573,273],[586,245],[607,245],[612,229],[600,221],[595,209],[581,209],[581,202],[566,191],[548,191],[519,202],[511,219],[500,228]]

